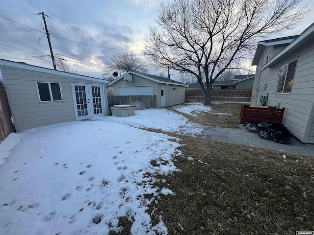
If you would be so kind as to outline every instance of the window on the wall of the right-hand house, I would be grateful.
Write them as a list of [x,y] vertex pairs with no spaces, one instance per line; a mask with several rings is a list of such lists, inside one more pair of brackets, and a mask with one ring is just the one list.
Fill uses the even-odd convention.
[[297,60],[280,67],[276,93],[290,93]]

